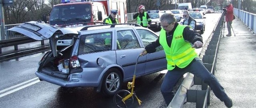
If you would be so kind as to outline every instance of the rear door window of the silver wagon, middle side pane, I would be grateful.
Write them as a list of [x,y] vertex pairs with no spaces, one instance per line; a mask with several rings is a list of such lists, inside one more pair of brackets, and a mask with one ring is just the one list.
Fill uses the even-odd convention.
[[117,31],[117,49],[140,48],[138,39],[132,30]]

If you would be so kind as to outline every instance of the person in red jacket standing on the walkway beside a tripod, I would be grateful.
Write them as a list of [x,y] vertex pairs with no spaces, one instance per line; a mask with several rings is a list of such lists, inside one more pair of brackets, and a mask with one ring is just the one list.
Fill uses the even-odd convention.
[[228,27],[228,34],[226,36],[231,36],[231,24],[233,21],[233,5],[231,4],[230,1],[227,2],[225,20],[227,22]]

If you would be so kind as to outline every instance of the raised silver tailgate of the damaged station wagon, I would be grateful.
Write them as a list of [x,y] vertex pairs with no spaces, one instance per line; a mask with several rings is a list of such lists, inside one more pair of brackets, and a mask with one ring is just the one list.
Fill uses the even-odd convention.
[[57,56],[57,40],[62,36],[67,34],[78,36],[78,31],[73,28],[56,28],[44,22],[30,21],[14,26],[13,28],[8,29],[13,31],[14,34],[17,32],[24,34],[35,40],[45,40],[50,38],[50,46],[53,52],[53,56]]

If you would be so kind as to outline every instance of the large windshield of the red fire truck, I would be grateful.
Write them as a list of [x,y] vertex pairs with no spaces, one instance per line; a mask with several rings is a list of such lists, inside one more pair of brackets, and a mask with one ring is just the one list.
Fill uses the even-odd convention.
[[90,4],[55,6],[50,14],[50,25],[64,25],[78,22],[90,22],[92,10]]

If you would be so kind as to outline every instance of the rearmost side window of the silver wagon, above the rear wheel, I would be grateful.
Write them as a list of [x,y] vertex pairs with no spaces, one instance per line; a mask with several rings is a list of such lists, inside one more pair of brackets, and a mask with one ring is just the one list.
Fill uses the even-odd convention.
[[80,37],[78,54],[111,50],[112,32],[86,34]]

